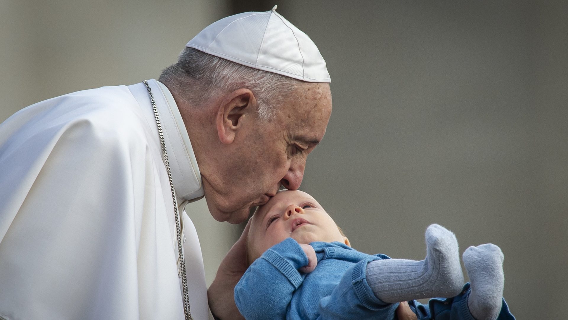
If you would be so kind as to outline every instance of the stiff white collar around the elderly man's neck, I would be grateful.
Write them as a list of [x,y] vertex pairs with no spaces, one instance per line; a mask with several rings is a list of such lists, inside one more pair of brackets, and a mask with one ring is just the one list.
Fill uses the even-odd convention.
[[[203,197],[201,174],[176,101],[163,83],[149,79],[148,85],[160,115],[174,188],[178,198],[182,200],[179,204],[184,201],[199,200]],[[142,86],[145,90],[146,87]],[[148,101],[146,103],[139,101],[139,103],[142,106],[148,104],[152,108],[148,92],[145,95]]]

